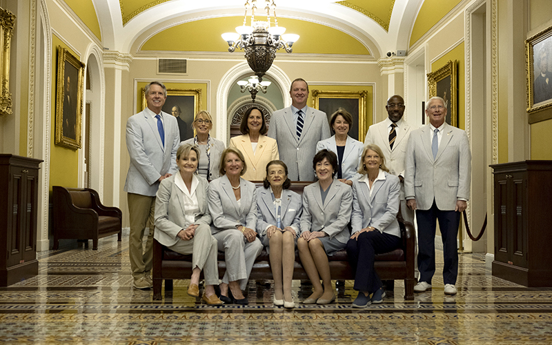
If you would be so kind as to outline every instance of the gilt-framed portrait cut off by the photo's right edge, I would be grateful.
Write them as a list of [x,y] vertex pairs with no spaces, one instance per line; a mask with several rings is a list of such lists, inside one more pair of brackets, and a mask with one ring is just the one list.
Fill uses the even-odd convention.
[[[552,78],[552,26],[533,34],[533,36],[525,40],[526,94],[529,124],[552,119],[552,97],[549,97],[550,92],[547,92],[546,96],[541,95],[542,88],[537,88],[535,85],[535,48],[538,48],[536,52],[540,56],[542,56],[541,51],[544,50],[546,52],[548,62],[547,72]],[[538,93],[536,97],[535,91]],[[550,81],[549,91],[552,91],[552,80]]]

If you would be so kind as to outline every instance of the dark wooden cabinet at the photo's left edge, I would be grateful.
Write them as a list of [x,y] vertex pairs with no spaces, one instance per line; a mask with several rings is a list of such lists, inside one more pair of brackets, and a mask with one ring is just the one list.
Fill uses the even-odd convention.
[[0,155],[0,286],[34,277],[40,159]]

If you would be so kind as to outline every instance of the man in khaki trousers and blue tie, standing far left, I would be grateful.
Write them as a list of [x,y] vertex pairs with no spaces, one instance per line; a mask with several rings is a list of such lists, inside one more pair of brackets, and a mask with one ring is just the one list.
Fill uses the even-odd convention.
[[[177,171],[180,142],[177,119],[161,111],[167,98],[167,89],[163,83],[152,81],[144,91],[148,107],[132,115],[126,122],[126,148],[130,155],[130,166],[124,187],[128,193],[128,252],[133,286],[141,289],[152,286],[150,272],[155,194],[159,182]],[[142,238],[148,225],[150,232],[144,253]]]

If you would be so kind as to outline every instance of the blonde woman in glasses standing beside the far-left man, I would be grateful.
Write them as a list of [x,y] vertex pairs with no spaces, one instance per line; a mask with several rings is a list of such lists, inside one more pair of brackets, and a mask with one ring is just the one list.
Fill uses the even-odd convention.
[[220,155],[226,146],[222,140],[209,135],[210,130],[213,129],[213,117],[206,110],[200,110],[195,115],[192,127],[196,132],[195,137],[182,141],[180,144],[197,145],[199,152],[201,152],[199,165],[197,166],[199,176],[204,177],[207,181],[218,179],[220,177]]

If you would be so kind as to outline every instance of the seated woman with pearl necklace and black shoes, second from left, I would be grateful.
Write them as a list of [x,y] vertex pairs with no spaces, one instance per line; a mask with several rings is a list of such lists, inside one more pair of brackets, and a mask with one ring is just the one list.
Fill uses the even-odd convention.
[[257,190],[255,184],[240,177],[246,170],[242,152],[226,148],[219,166],[222,176],[208,188],[209,211],[213,217],[211,231],[226,261],[226,273],[220,285],[220,299],[224,303],[248,304],[242,290],[247,286],[255,258],[263,250],[253,230],[257,225]]

